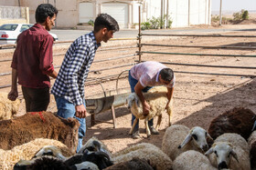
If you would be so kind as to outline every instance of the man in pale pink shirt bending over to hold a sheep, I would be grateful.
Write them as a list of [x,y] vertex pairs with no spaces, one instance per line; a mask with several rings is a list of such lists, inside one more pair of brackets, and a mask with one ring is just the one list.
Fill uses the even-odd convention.
[[[167,99],[169,105],[175,85],[176,77],[172,69],[167,68],[165,65],[160,64],[155,61],[147,61],[138,65],[134,65],[129,71],[129,84],[131,86],[132,93],[135,92],[139,96],[142,104],[144,115],[148,115],[150,110],[150,105],[144,99],[143,92],[147,92],[152,86],[165,85],[167,87]],[[132,115],[132,125],[136,117]],[[152,135],[158,135],[153,126],[154,119],[148,122],[150,131]],[[133,139],[140,138],[139,133],[139,122],[135,125],[133,130]]]

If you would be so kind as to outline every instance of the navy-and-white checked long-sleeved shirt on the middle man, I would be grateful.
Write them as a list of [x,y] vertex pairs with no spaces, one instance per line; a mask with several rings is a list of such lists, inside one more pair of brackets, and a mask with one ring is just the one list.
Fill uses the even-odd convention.
[[74,105],[82,105],[84,83],[100,45],[97,44],[93,32],[76,39],[69,46],[51,94],[64,97]]

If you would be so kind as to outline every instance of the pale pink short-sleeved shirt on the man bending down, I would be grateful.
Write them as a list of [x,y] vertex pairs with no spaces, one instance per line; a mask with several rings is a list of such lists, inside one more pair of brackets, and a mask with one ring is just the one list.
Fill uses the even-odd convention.
[[[141,85],[145,86],[156,86],[156,85],[163,85],[159,81],[159,73],[163,68],[167,66],[155,62],[155,61],[147,61],[144,63],[140,63],[138,65],[134,65],[130,73],[134,79],[138,80]],[[170,82],[169,85],[165,85],[168,88],[174,87],[176,83],[176,76],[174,75],[173,80]]]

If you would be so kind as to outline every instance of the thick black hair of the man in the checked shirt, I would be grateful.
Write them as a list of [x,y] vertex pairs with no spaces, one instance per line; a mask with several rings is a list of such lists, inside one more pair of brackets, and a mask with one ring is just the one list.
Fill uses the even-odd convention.
[[100,14],[96,17],[94,22],[94,32],[100,31],[102,28],[107,28],[108,31],[119,31],[119,25],[117,21],[108,14]]

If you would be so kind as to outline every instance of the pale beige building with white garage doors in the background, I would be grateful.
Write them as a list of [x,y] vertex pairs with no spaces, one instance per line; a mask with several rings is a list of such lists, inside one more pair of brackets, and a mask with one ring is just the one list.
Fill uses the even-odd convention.
[[0,6],[29,7],[29,22],[33,24],[37,5],[42,3],[58,8],[57,27],[87,24],[98,14],[107,13],[121,28],[132,28],[139,22],[139,6],[142,22],[168,15],[172,27],[209,25],[211,15],[211,0],[1,0]]

